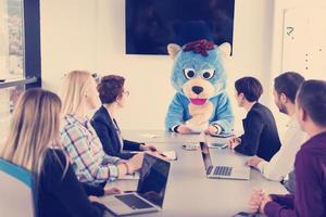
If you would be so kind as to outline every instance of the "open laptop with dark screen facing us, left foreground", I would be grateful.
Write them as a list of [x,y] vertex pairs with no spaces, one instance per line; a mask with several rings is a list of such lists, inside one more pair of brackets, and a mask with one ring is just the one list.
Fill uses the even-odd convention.
[[162,209],[170,163],[145,154],[136,192],[101,197],[116,216],[159,212]]

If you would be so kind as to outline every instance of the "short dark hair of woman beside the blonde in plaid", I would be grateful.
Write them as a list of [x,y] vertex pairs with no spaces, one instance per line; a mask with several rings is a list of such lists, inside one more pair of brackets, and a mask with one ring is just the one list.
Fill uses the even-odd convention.
[[103,104],[113,103],[124,91],[125,78],[117,75],[106,75],[101,78],[98,91]]

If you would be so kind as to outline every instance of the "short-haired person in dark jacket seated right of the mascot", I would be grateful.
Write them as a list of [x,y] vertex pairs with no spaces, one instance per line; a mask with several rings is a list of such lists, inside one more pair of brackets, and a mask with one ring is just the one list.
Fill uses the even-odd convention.
[[236,81],[238,105],[248,111],[242,120],[244,133],[233,138],[229,145],[244,155],[256,155],[266,162],[278,152],[280,141],[272,112],[259,99],[263,93],[260,81],[253,77],[243,77]]

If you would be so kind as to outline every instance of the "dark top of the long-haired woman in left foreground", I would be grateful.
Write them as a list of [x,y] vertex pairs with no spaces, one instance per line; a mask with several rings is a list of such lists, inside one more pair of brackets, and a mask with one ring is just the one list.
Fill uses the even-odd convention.
[[91,203],[87,194],[103,195],[103,190],[82,186],[72,166],[65,169],[66,158],[60,150],[49,150],[38,182],[37,214],[41,217],[97,217],[103,216],[104,207]]

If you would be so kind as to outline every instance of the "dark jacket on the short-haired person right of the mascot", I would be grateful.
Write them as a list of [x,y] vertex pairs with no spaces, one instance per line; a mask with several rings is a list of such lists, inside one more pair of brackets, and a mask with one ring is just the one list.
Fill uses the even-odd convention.
[[280,149],[274,116],[264,105],[255,103],[242,120],[244,133],[236,151],[244,155],[258,155],[269,162]]

